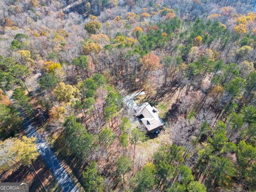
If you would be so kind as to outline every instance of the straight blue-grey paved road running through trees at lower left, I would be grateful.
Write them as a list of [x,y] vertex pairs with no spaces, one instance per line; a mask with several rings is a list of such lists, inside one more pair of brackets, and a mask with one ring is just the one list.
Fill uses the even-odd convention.
[[[7,95],[13,102],[13,99],[11,97],[11,93],[7,92]],[[29,120],[29,118],[20,111],[21,115],[23,116],[24,120],[22,123],[23,129],[25,129],[27,137],[35,137],[36,143],[37,143],[37,149],[40,153],[40,155],[44,158],[44,161],[46,162],[47,166],[53,173],[55,179],[58,181],[59,185],[61,186],[62,190],[64,192],[75,192],[77,191],[77,188],[75,187],[75,183],[71,178],[69,177],[69,174],[66,172],[64,167],[59,162],[58,158],[54,155],[52,150],[50,149],[47,142],[44,140],[42,135],[38,133]]]

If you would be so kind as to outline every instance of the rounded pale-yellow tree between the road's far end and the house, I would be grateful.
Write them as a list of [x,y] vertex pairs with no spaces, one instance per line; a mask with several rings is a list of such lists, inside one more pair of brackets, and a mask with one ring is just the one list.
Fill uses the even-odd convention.
[[56,95],[58,101],[65,102],[76,101],[80,96],[80,92],[75,86],[62,82],[57,85],[57,87],[53,90],[53,93]]

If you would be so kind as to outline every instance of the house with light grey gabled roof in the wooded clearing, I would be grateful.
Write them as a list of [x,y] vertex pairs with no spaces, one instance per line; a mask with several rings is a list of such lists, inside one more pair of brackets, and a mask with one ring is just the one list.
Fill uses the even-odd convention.
[[141,122],[149,132],[154,132],[164,125],[164,121],[158,116],[158,111],[148,102],[133,108],[135,116],[141,118]]

